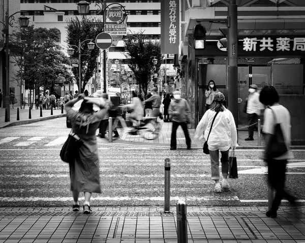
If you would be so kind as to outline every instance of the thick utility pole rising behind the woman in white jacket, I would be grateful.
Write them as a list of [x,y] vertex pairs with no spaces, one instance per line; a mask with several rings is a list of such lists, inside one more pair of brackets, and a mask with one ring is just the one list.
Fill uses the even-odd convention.
[[232,112],[235,124],[238,124],[238,72],[237,72],[237,5],[230,0],[228,6],[228,108]]

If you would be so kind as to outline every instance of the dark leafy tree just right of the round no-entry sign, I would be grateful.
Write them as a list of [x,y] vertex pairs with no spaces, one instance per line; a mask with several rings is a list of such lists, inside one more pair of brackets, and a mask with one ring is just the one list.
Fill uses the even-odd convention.
[[[125,56],[129,59],[128,65],[136,77],[139,90],[146,95],[150,75],[158,73],[160,70],[162,55],[160,42],[147,38],[143,32],[133,32],[127,35]],[[157,65],[153,63],[154,57],[158,60]],[[156,66],[156,71],[153,70],[154,66]]]

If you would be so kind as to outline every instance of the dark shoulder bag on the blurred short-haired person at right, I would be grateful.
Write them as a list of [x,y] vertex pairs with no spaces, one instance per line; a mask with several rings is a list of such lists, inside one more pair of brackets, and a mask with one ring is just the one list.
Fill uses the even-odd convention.
[[[271,109],[269,107],[269,109]],[[277,117],[275,112],[271,109],[273,116],[275,118],[275,131],[274,134],[271,134],[268,144],[266,145],[265,149],[265,158],[272,159],[279,157],[285,154],[288,149],[285,144],[281,124],[277,122]]]

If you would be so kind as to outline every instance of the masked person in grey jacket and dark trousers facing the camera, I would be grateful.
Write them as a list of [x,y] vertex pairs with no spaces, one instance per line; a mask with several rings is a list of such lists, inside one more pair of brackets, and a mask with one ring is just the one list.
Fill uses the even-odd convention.
[[188,123],[191,121],[191,108],[189,102],[181,98],[180,91],[173,92],[174,99],[170,102],[168,114],[172,117],[172,133],[170,138],[170,150],[177,149],[177,128],[181,126],[186,137],[187,149],[191,149],[191,138],[188,131]]

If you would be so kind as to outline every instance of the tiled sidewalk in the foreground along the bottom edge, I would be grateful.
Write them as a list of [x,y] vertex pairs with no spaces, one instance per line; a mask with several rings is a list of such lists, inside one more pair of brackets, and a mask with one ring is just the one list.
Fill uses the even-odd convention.
[[[176,209],[99,207],[90,216],[69,208],[0,208],[0,242],[177,242]],[[189,242],[305,242],[305,207],[189,207]]]

